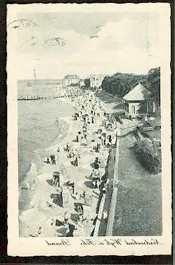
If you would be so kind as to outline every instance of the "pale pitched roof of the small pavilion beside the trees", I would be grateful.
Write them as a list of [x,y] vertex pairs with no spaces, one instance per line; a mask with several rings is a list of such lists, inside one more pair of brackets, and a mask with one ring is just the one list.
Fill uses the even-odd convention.
[[125,101],[145,101],[146,93],[149,93],[148,89],[146,89],[145,86],[139,83],[123,98]]

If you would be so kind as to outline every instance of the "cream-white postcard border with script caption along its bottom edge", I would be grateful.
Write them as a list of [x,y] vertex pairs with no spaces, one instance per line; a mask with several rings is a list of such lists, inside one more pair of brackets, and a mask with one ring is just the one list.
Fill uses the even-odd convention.
[[[18,102],[15,77],[15,56],[8,49],[8,255],[145,255],[171,254],[171,27],[169,4],[27,4],[8,5],[8,21],[18,12],[146,12],[160,14],[162,48],[161,115],[162,115],[162,198],[163,234],[149,237],[98,237],[89,238],[92,245],[84,245],[84,238],[19,238],[18,237]],[[11,43],[8,36],[8,44]],[[9,46],[8,46],[9,48]],[[121,241],[120,241],[121,239]],[[155,245],[127,245],[131,239],[137,243],[157,240]],[[63,240],[63,242],[62,242]],[[107,242],[107,241],[108,242]],[[116,241],[114,241],[116,240]],[[117,241],[118,240],[118,241]],[[126,241],[125,241],[126,240]],[[112,242],[113,243],[112,245]],[[118,243],[117,243],[118,242]],[[121,243],[121,245],[119,244]],[[49,245],[58,243],[58,245]],[[114,246],[115,245],[115,246]]]

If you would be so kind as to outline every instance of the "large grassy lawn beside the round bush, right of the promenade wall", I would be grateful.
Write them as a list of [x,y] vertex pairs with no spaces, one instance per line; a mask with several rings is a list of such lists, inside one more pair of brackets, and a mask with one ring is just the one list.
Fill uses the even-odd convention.
[[112,235],[161,235],[161,174],[149,174],[136,159],[129,134],[119,142],[119,190]]

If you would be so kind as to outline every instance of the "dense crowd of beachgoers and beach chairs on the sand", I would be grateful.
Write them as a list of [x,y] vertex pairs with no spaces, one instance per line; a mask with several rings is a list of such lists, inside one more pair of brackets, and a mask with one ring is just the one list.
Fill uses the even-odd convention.
[[[52,185],[56,188],[56,193],[59,193],[59,200],[60,198],[62,200],[62,204],[59,206],[63,207],[63,216],[62,218],[59,216],[55,220],[52,219],[51,226],[58,226],[58,224],[64,226],[64,236],[83,236],[86,235],[84,229],[95,224],[94,221],[98,214],[97,205],[96,209],[94,208],[93,201],[95,199],[92,194],[97,195],[97,203],[109,191],[112,176],[108,176],[106,165],[110,150],[115,147],[117,141],[117,131],[112,115],[93,92],[80,93],[77,91],[70,98],[74,106],[72,119],[74,119],[75,124],[78,124],[76,127],[78,129],[73,132],[74,139],[65,142],[65,146],[58,146],[57,154],[47,157],[46,162],[59,164],[59,157],[63,155],[68,164],[72,164],[74,169],[78,170],[86,164],[87,154],[89,157],[94,157],[93,160],[90,159],[91,162],[88,165],[89,176],[86,178],[82,176],[82,183],[87,182],[86,179],[88,178],[91,185],[85,188],[83,184],[82,189],[77,188],[77,183],[74,183],[71,174],[67,174],[67,168],[64,164],[61,164],[56,172],[53,172]],[[69,206],[71,205],[70,202],[73,202],[74,209]],[[91,212],[92,205],[93,213]],[[54,203],[48,201],[48,206],[54,208]],[[74,229],[70,231],[71,214],[74,212],[77,213],[77,219],[73,220]],[[102,218],[108,221],[107,209],[103,209]],[[42,236],[40,226],[37,236]],[[58,236],[63,236],[63,234],[58,234]]]

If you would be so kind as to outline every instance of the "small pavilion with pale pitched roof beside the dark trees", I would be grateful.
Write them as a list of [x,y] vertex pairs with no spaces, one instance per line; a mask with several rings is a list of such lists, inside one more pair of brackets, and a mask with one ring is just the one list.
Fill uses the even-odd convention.
[[150,92],[141,83],[137,84],[125,95],[125,115],[127,117],[137,117],[139,115],[148,115],[155,112],[155,101],[146,101],[146,96]]

